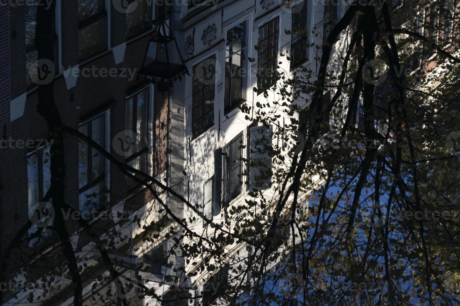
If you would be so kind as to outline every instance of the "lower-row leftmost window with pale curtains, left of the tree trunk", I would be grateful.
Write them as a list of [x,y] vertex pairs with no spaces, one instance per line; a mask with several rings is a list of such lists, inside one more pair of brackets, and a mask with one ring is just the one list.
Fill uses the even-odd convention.
[[[27,186],[29,196],[29,211],[35,204],[40,203],[51,187],[51,158],[47,147],[42,147],[27,156]],[[51,200],[48,200],[51,202]],[[29,229],[29,236],[35,234],[38,227],[33,224]],[[29,247],[35,244],[43,245],[49,241],[54,232],[50,228],[43,228],[41,235],[29,242]]]

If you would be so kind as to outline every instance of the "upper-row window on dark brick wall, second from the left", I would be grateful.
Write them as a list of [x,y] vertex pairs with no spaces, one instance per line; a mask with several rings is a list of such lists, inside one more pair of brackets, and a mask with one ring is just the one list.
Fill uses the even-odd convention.
[[78,0],[78,57],[84,60],[107,49],[104,0]]

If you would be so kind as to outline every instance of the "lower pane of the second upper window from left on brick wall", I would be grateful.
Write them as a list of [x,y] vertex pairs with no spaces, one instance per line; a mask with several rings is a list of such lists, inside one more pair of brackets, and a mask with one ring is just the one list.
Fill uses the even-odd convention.
[[78,30],[78,56],[83,60],[106,49],[106,17]]

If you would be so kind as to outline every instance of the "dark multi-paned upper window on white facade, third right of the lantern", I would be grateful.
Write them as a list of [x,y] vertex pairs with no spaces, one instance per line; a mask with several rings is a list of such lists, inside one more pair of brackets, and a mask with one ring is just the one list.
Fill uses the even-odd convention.
[[278,23],[276,17],[259,28],[257,88],[258,94],[276,84],[276,65],[278,61]]

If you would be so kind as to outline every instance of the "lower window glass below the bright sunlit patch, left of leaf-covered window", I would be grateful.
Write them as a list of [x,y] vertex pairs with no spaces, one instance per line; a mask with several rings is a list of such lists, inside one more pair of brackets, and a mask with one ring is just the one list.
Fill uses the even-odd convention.
[[242,191],[243,135],[236,136],[222,152],[222,204],[228,205]]

